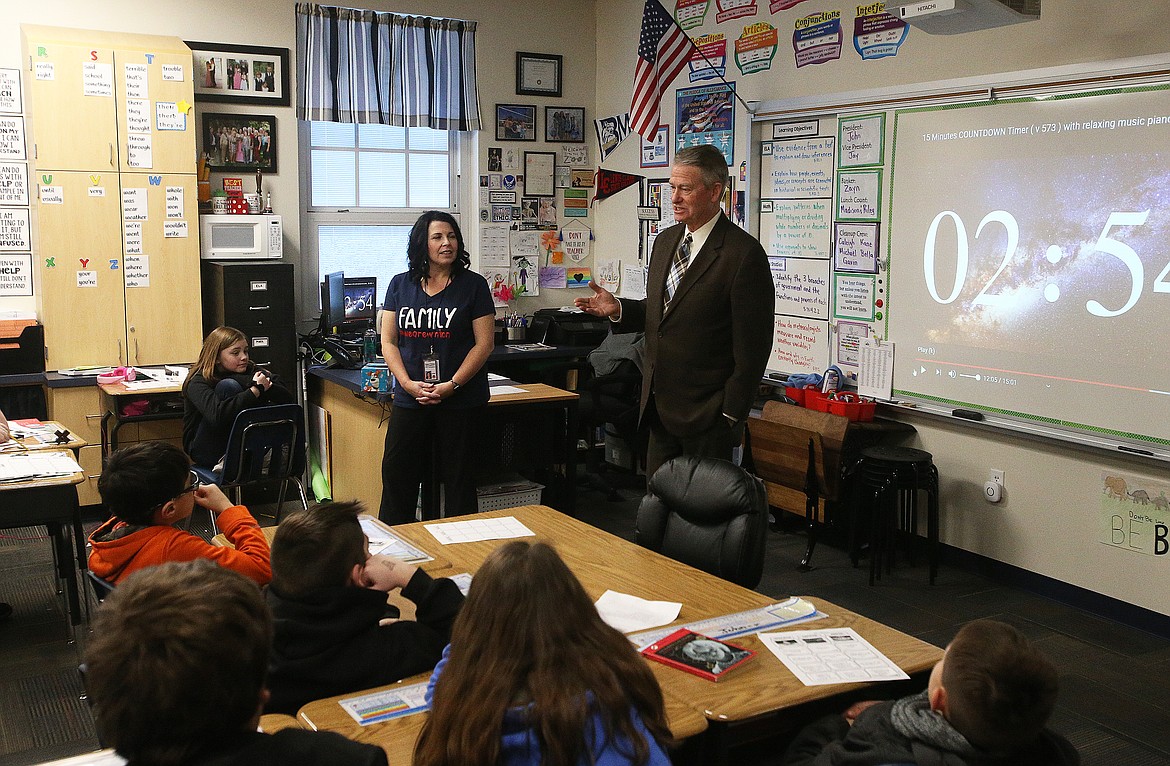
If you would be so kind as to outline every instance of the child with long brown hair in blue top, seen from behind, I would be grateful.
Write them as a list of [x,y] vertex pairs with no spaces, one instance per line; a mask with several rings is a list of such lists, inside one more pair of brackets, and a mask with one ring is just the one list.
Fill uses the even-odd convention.
[[668,766],[662,690],[557,552],[501,545],[427,689],[415,766]]

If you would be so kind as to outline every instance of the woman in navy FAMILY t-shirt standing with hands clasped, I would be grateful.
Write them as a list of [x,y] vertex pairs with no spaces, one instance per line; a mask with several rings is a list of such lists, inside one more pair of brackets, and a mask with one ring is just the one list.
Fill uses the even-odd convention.
[[495,306],[459,223],[447,213],[419,216],[406,246],[410,268],[390,282],[381,354],[394,374],[394,409],[381,458],[387,524],[414,520],[432,451],[446,488],[447,516],[474,513],[474,427],[488,405]]

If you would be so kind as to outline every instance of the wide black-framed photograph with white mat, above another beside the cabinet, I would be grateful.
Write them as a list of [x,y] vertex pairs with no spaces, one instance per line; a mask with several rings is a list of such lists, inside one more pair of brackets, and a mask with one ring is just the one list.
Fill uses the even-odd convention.
[[289,105],[289,49],[191,42],[195,101]]

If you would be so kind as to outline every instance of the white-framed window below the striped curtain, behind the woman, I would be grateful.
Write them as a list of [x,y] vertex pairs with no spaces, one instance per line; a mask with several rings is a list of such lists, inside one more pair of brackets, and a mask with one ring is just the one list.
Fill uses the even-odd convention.
[[[307,267],[316,263],[316,281],[331,271],[377,277],[380,305],[390,280],[406,270],[406,241],[419,215],[439,209],[460,219],[459,168],[469,136],[302,122],[301,249]],[[318,301],[317,290],[307,291],[310,315]]]

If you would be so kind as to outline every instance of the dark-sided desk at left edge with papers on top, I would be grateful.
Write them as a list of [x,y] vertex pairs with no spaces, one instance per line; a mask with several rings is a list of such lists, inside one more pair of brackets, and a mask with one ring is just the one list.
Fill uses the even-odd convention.
[[[69,450],[56,450],[74,456]],[[0,483],[0,527],[37,526],[49,530],[54,544],[57,577],[66,581],[69,624],[81,621],[81,600],[77,591],[77,567],[84,566],[84,538],[81,506],[74,488],[85,481],[81,471],[69,476],[37,478],[27,482]],[[75,560],[70,550],[70,530],[77,540],[81,557]]]

